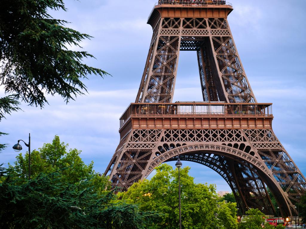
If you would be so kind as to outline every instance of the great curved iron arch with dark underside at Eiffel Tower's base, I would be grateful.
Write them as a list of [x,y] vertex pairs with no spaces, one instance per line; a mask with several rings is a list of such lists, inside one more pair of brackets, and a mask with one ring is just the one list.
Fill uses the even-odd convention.
[[[191,143],[161,153],[154,157],[151,163],[148,164],[144,178],[146,178],[158,165],[164,162],[176,161],[178,157],[180,157],[181,161],[190,161],[205,165],[222,176],[233,191],[237,204],[240,209],[242,209],[243,213],[244,209],[248,209],[249,206],[260,209],[262,206],[270,205],[271,210],[276,214],[276,209],[273,207],[271,198],[267,192],[267,187],[271,190],[278,203],[284,199],[286,200],[286,209],[282,209],[282,211],[284,213],[293,213],[291,210],[294,209],[294,205],[290,202],[289,198],[284,195],[267,165],[252,154],[224,144]],[[242,170],[251,171],[251,173],[245,174],[245,180],[242,183],[239,182],[241,178],[237,177],[236,173],[232,171],[235,166]],[[249,193],[249,197],[246,198],[245,190],[248,189],[248,182],[255,180],[257,184],[261,184],[262,186],[258,187],[257,193]],[[246,187],[241,187],[241,184],[246,184]],[[244,193],[242,192],[243,190]],[[263,195],[263,192],[266,195]],[[250,205],[250,199],[252,200],[252,205]]]

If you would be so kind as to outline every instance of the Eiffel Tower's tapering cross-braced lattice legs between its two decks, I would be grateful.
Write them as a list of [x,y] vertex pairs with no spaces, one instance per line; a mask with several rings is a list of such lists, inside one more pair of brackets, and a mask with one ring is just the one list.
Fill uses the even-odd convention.
[[172,102],[180,51],[197,51],[203,99],[255,103],[226,18],[161,17],[136,102]]

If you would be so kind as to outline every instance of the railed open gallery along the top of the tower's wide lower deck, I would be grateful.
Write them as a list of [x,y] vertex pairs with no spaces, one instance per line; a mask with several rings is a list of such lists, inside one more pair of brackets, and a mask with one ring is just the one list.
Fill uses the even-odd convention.
[[222,102],[132,103],[120,118],[120,127],[129,118],[150,117],[273,117],[272,104],[238,104]]

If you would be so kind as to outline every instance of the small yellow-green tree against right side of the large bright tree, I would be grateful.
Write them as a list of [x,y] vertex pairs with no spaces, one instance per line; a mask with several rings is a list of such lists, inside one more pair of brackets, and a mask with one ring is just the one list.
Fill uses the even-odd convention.
[[236,203],[218,203],[217,224],[218,229],[237,229],[237,205]]

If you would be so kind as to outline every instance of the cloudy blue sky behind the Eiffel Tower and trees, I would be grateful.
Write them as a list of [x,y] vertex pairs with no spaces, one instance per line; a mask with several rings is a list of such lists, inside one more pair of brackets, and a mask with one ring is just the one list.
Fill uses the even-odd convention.
[[[81,42],[96,59],[85,63],[112,76],[84,79],[88,94],[66,104],[59,96],[47,96],[43,109],[22,104],[23,111],[8,115],[0,123],[0,138],[9,147],[0,153],[0,163],[13,163],[12,146],[28,140],[31,150],[52,142],[55,135],[70,148],[82,151],[86,164],[94,161],[103,173],[119,143],[119,117],[135,101],[152,28],[146,24],[156,0],[65,0],[68,12],[51,11],[68,27],[93,38]],[[305,0],[231,0],[228,21],[248,80],[259,103],[273,103],[273,130],[301,172],[306,174],[305,127],[306,45]],[[75,49],[72,47],[72,49]],[[196,52],[180,52],[173,101],[201,101]],[[0,88],[0,96],[3,96]],[[24,149],[26,148],[23,145]],[[23,150],[25,153],[25,150]],[[170,165],[175,162],[170,162]],[[230,191],[213,170],[193,162],[190,175],[196,183],[216,184]]]

